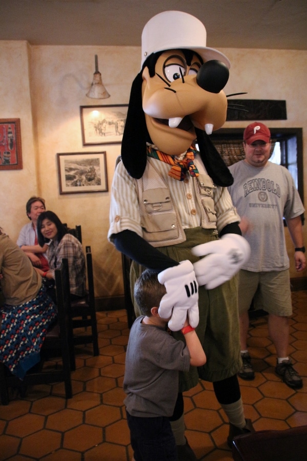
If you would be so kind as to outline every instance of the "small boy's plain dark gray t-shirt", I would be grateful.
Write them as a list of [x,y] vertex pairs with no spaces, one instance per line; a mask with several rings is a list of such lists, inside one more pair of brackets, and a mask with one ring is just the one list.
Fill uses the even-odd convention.
[[189,350],[163,328],[138,317],[129,333],[123,388],[129,414],[171,416],[179,389],[179,370],[190,367]]

